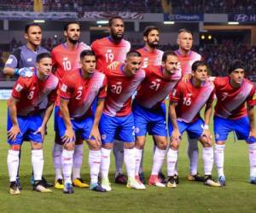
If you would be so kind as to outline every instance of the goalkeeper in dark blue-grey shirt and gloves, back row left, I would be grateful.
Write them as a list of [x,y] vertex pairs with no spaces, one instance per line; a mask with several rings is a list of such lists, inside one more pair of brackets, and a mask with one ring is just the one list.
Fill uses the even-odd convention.
[[[27,24],[25,26],[24,37],[26,39],[26,44],[15,49],[9,55],[9,58],[5,63],[3,73],[7,76],[31,78],[36,65],[37,55],[41,53],[49,53],[47,49],[40,46],[42,41],[42,29],[37,23]],[[51,183],[47,182],[44,177],[42,180],[45,187],[53,186]],[[17,173],[17,184],[21,190],[19,169]]]

